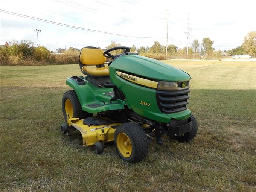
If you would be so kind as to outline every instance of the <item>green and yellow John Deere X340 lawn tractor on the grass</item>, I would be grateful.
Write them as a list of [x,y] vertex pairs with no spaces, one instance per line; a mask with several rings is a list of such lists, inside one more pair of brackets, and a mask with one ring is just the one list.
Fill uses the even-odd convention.
[[[106,58],[112,59],[107,66]],[[130,53],[129,47],[105,52],[84,47],[79,67],[85,76],[66,81],[72,90],[62,98],[66,123],[61,131],[80,131],[84,146],[100,154],[104,143],[114,141],[121,158],[139,162],[154,137],[162,145],[164,135],[180,142],[196,136],[197,121],[187,109],[191,78],[186,72]]]

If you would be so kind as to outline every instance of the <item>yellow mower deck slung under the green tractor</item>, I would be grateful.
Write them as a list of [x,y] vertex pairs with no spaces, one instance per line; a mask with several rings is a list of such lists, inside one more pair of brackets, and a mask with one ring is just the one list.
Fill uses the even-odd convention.
[[[94,145],[96,142],[110,142],[114,141],[115,127],[122,123],[111,123],[108,125],[84,125],[84,119],[68,118],[67,122],[69,126],[80,131],[83,138],[83,146]],[[113,128],[114,127],[114,128]]]

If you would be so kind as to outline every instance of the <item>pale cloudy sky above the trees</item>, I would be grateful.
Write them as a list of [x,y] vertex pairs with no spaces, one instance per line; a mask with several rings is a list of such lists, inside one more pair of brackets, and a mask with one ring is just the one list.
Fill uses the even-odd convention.
[[254,0],[0,0],[0,45],[31,40],[37,46],[34,29],[41,30],[39,45],[49,50],[105,49],[111,41],[137,48],[154,41],[166,45],[167,15],[168,44],[178,48],[187,46],[187,27],[189,46],[209,37],[222,51],[241,46],[256,30]]

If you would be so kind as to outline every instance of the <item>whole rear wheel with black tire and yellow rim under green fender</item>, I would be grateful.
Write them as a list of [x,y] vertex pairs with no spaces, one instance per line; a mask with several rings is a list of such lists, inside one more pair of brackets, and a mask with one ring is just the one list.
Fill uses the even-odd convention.
[[74,90],[66,91],[62,98],[62,113],[67,122],[67,116],[84,119],[92,117],[93,114],[83,111],[81,104]]

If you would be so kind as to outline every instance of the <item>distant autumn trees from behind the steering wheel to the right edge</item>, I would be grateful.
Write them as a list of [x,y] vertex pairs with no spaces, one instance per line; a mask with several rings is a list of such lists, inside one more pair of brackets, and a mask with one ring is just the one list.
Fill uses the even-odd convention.
[[[155,41],[151,47],[136,47],[135,45],[131,46],[131,52],[138,53],[139,55],[148,56],[154,59],[162,60],[162,59],[221,59],[224,53],[228,53],[227,55],[240,55],[240,54],[248,54],[253,57],[256,57],[256,31],[251,31],[247,36],[244,37],[244,42],[241,46],[238,46],[234,49],[224,50],[215,50],[213,48],[214,41],[209,37],[203,38],[200,42],[198,39],[192,41],[190,46],[183,47],[182,49],[174,44],[169,44],[167,47],[167,55],[166,46],[161,45],[158,41]],[[114,41],[111,42],[106,49],[110,49],[112,47],[121,46],[120,43],[116,43]]]

